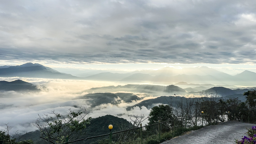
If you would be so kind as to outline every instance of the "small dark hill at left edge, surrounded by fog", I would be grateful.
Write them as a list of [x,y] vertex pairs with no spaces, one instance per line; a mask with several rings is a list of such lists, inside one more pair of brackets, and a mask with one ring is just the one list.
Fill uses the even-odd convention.
[[15,80],[15,81],[0,81],[0,90],[2,91],[38,91],[37,87],[33,84],[27,83],[22,80]]

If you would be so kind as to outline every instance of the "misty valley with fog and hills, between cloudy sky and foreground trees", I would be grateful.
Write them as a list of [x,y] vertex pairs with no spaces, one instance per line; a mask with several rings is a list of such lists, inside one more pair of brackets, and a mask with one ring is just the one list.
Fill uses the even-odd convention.
[[[161,70],[162,75],[158,76],[153,74],[160,72],[143,71],[145,74],[142,74],[140,71],[126,74],[104,72],[82,78],[40,64],[0,67],[0,111],[3,116],[0,118],[3,121],[0,128],[4,129],[4,123],[9,123],[13,130],[25,134],[35,130],[31,123],[38,115],[42,116],[51,110],[65,114],[68,109],[79,110],[80,106],[92,112],[88,117],[97,119],[111,115],[129,122],[132,115],[148,116],[151,108],[159,104],[172,103],[176,107],[181,101],[191,98],[200,100],[202,97],[216,97],[216,101],[237,98],[245,102],[243,93],[255,89],[248,87],[253,86],[250,83],[244,87],[223,83],[221,76],[227,74],[202,68],[212,75],[186,75],[184,72],[173,76],[175,73]],[[226,80],[240,83],[240,78],[246,79],[242,73],[234,77],[229,75]],[[147,122],[145,120],[142,124]],[[32,135],[36,136],[36,133]],[[23,137],[30,139],[26,134]]]

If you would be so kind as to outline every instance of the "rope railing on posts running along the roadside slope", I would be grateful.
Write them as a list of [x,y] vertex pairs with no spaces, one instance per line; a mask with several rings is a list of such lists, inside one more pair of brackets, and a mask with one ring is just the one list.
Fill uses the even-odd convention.
[[[97,138],[97,137],[103,137],[103,136],[109,136],[109,135],[112,136],[112,134],[121,133],[121,132],[125,132],[125,131],[130,131],[130,130],[135,130],[135,129],[142,129],[142,128],[145,128],[145,127],[150,127],[150,126],[154,126],[154,125],[160,125],[160,124],[163,124],[163,123],[166,123],[166,122],[171,122],[171,121],[180,120],[180,119],[198,118],[198,117],[211,117],[211,116],[216,116],[216,115],[218,115],[218,116],[224,116],[224,115],[229,116],[229,114],[214,114],[214,115],[207,115],[207,116],[206,115],[199,115],[199,116],[181,117],[181,118],[176,118],[176,119],[173,119],[173,120],[158,122],[158,123],[152,124],[152,125],[146,125],[146,126],[136,127],[136,128],[132,128],[132,129],[121,130],[121,131],[117,131],[117,132],[113,132],[113,133],[110,131],[110,133],[105,134],[105,135],[92,136],[92,137],[88,137],[88,138],[83,138],[83,139],[78,139],[78,140],[73,140],[73,141],[62,142],[62,143],[58,143],[58,144],[68,144],[68,143],[73,143],[73,142],[87,140],[87,139],[92,139],[92,138]],[[223,121],[225,121],[224,117],[223,117]],[[197,121],[195,123],[197,124]],[[202,118],[202,126],[203,126],[203,118]],[[142,137],[142,134],[141,134],[141,137]],[[159,135],[159,137],[160,137],[160,135]]]

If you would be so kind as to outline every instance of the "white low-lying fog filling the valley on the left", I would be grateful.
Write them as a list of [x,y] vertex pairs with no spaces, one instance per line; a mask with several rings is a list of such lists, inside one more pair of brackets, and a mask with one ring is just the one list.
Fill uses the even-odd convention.
[[[125,85],[115,82],[102,81],[86,81],[86,80],[63,80],[63,79],[43,79],[43,78],[19,78],[10,77],[0,80],[14,81],[23,80],[34,85],[38,85],[40,92],[16,92],[16,91],[0,91],[0,129],[5,129],[4,124],[12,127],[11,132],[19,130],[19,133],[25,133],[35,130],[31,125],[36,120],[38,114],[42,116],[55,110],[61,114],[66,114],[68,109],[78,110],[73,106],[87,106],[92,111],[88,117],[99,117],[107,114],[118,116],[130,120],[130,115],[144,114],[148,116],[150,110],[146,107],[134,107],[130,111],[126,111],[127,106],[135,105],[136,103],[154,98],[153,96],[145,97],[145,94],[136,93],[141,100],[131,103],[119,102],[117,105],[101,104],[96,107],[90,107],[90,103],[86,99],[78,99],[86,92],[82,91],[103,86]],[[146,122],[146,121],[145,121]],[[144,123],[145,124],[145,123]]]

